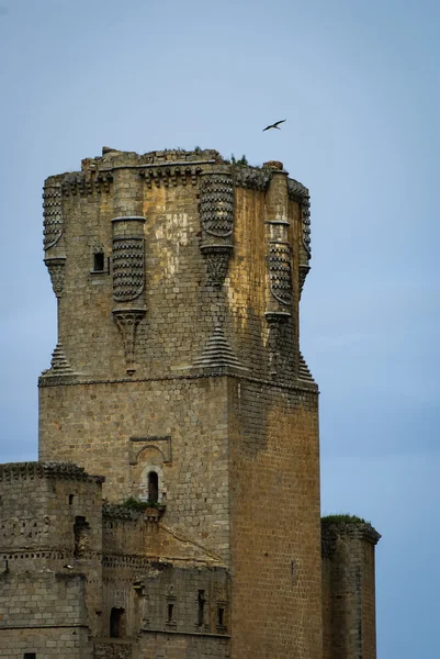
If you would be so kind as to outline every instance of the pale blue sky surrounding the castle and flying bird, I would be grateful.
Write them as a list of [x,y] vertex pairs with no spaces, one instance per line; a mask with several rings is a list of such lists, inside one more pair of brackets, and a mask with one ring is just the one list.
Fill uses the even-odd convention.
[[383,534],[380,659],[440,656],[439,33],[433,0],[0,0],[0,461],[36,458],[56,343],[44,178],[103,145],[282,160],[312,192],[323,512]]

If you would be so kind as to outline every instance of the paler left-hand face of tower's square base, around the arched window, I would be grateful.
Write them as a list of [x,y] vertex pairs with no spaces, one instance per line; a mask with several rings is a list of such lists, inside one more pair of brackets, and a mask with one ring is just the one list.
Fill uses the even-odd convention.
[[113,501],[140,495],[158,469],[163,524],[219,560],[228,555],[226,410],[224,378],[46,387],[40,458],[101,470]]

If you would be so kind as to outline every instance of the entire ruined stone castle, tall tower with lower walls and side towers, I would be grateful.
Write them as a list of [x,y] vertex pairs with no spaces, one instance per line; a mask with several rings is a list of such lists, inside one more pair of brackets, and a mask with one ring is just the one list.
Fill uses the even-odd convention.
[[0,468],[0,657],[374,659],[379,536],[321,546],[307,189],[104,148],[46,180],[44,247],[58,342],[40,461]]

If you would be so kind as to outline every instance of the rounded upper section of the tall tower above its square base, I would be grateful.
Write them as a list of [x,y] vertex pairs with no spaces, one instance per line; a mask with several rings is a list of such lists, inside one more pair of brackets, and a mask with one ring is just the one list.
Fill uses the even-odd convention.
[[41,387],[201,369],[315,387],[298,350],[309,193],[282,163],[105,147],[43,197],[59,315]]

